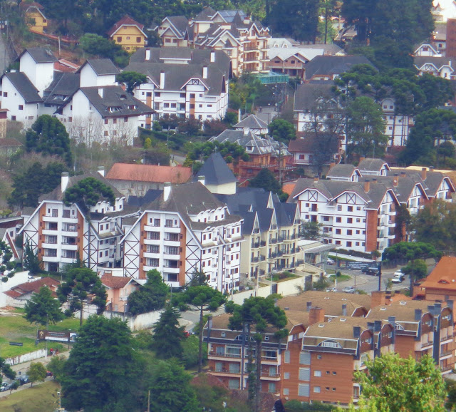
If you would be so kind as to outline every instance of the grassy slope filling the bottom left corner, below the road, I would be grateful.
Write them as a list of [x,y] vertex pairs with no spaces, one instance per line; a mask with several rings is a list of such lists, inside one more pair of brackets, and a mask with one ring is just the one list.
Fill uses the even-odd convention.
[[13,391],[11,395],[0,398],[0,411],[54,411],[58,407],[58,391],[60,391],[60,386],[56,381],[41,383],[40,385],[23,389],[22,391]]

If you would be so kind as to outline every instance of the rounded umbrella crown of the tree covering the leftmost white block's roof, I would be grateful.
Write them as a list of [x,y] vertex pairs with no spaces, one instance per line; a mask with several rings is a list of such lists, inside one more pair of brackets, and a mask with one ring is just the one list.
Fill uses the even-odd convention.
[[68,187],[65,190],[65,195],[63,195],[63,202],[67,206],[76,203],[84,212],[102,200],[114,205],[115,195],[110,186],[105,185],[95,177],[86,177],[80,180],[76,185]]

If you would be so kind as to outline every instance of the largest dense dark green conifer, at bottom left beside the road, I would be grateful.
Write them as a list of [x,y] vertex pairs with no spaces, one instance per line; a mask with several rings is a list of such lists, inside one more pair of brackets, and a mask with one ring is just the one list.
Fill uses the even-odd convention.
[[143,409],[139,359],[132,349],[131,331],[118,318],[90,316],[61,378],[63,406],[86,411]]

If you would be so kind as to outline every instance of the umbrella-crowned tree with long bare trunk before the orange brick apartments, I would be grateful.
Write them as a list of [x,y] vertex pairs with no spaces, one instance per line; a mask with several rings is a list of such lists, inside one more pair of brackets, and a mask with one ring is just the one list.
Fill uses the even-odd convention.
[[[245,325],[254,329],[255,341],[255,368],[252,368],[252,362],[249,359],[249,393],[251,394],[252,406],[255,412],[260,409],[260,391],[261,391],[261,349],[264,341],[266,329],[268,327],[276,328],[274,337],[280,339],[288,335],[285,328],[287,320],[285,312],[275,306],[274,299],[264,297],[249,297],[245,299],[242,305],[233,305],[233,314],[229,318],[229,328],[232,330],[244,331]],[[249,341],[249,358],[252,355]]]

